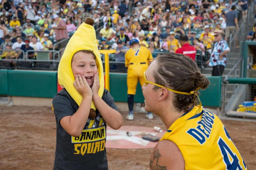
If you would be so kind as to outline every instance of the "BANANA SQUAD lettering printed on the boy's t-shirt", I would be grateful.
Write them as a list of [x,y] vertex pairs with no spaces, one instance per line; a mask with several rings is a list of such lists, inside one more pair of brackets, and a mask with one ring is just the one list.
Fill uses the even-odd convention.
[[[78,137],[72,136],[74,144],[74,154],[96,153],[105,148],[106,131],[105,126],[95,129],[83,130]],[[101,141],[99,141],[101,140]]]

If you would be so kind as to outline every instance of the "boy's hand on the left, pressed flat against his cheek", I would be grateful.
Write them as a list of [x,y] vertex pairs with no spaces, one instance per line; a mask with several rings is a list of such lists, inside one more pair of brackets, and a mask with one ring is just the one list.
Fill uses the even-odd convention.
[[93,92],[91,91],[91,87],[88,85],[84,76],[81,76],[80,74],[76,75],[75,82],[73,84],[75,89],[83,98],[88,96],[92,97]]

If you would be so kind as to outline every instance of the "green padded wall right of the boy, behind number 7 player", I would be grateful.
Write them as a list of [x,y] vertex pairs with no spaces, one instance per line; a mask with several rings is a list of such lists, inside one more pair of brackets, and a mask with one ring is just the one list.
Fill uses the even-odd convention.
[[[115,102],[127,102],[126,73],[110,73],[110,94]],[[203,106],[221,107],[221,76],[207,77],[211,85],[206,90],[200,90],[200,100]],[[143,103],[141,86],[137,85],[134,102]]]

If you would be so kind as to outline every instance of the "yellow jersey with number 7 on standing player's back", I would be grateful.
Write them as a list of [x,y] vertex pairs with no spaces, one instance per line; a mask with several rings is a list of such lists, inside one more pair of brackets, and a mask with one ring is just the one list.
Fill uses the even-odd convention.
[[149,65],[151,61],[153,61],[151,52],[143,46],[130,48],[125,53],[125,67],[128,67],[130,64],[136,65],[143,63]]

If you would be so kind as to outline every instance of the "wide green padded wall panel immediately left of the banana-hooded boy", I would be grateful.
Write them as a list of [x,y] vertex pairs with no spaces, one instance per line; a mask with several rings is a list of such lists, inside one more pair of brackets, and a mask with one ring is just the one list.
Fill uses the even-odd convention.
[[8,95],[53,98],[57,71],[8,70]]

